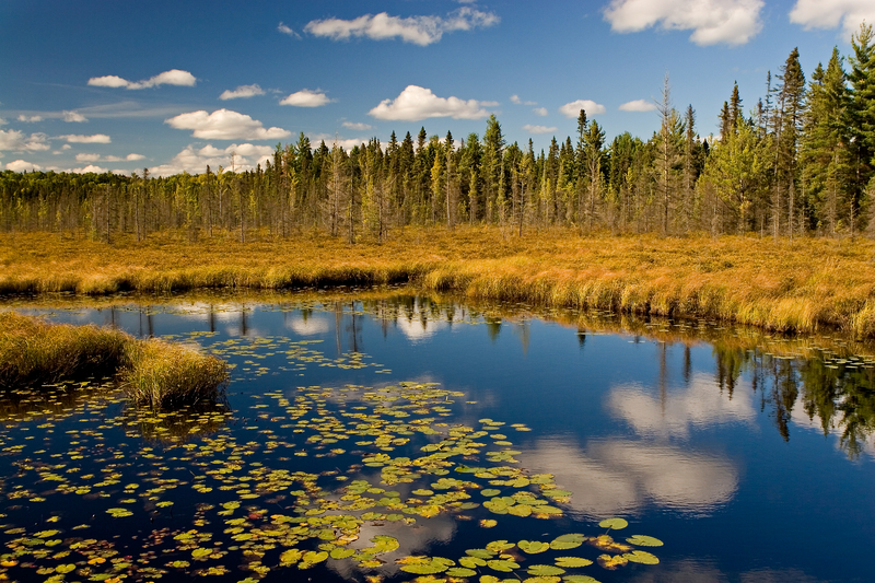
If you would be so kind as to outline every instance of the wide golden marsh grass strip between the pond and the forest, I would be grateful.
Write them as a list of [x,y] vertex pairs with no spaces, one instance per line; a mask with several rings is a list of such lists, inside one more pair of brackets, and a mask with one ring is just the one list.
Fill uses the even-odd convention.
[[[505,236],[506,235],[506,236]],[[573,231],[405,229],[348,245],[305,233],[238,243],[173,234],[113,245],[0,235],[0,293],[108,294],[410,283],[547,306],[707,317],[774,330],[875,337],[875,244],[754,236],[580,236]]]

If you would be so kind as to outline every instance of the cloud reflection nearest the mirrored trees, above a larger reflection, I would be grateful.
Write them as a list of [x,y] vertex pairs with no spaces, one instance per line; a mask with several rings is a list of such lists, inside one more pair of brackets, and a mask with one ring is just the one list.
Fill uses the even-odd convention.
[[751,398],[746,390],[736,390],[728,398],[710,376],[697,374],[685,389],[667,392],[664,400],[655,389],[640,385],[611,387],[607,405],[639,434],[687,436],[690,425],[752,423],[757,412]]

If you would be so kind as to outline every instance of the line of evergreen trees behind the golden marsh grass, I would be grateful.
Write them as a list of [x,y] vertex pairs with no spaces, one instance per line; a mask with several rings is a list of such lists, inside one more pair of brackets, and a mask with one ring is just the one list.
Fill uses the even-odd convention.
[[0,230],[112,241],[178,230],[285,237],[324,229],[350,243],[406,225],[494,224],[508,234],[553,225],[582,233],[854,236],[875,228],[875,34],[861,25],[845,59],[833,49],[806,80],[798,50],[745,113],[737,84],[701,138],[692,106],[678,110],[668,78],[648,140],[604,128],[581,110],[578,131],[535,152],[508,143],[495,116],[482,138],[429,136],[349,151],[301,133],[254,171],[210,168],[151,177],[0,174]]

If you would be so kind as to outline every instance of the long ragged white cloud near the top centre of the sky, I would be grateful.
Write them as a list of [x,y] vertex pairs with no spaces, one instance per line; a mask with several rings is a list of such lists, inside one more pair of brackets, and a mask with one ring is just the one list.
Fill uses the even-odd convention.
[[460,8],[442,16],[389,16],[386,12],[365,14],[353,20],[325,19],[307,23],[304,30],[314,36],[332,40],[368,37],[372,40],[400,38],[405,43],[427,46],[441,39],[444,33],[486,28],[498,24],[499,16],[471,8]]

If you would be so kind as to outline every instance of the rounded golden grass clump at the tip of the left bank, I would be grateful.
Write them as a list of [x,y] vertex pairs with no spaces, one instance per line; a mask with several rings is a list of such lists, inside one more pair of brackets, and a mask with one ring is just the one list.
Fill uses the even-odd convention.
[[125,390],[137,403],[154,408],[214,398],[228,380],[223,360],[154,338],[131,345],[128,361],[121,373]]

